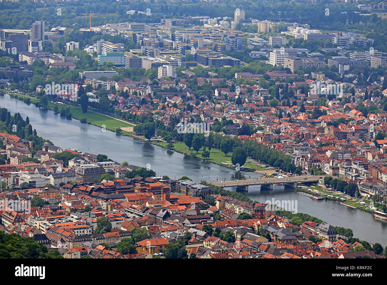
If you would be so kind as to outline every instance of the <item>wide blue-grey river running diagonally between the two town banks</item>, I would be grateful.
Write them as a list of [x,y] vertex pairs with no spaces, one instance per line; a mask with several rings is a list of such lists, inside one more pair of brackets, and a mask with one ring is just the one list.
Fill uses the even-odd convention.
[[[51,140],[62,149],[75,148],[93,154],[106,154],[114,161],[128,161],[129,164],[141,167],[150,166],[158,175],[168,175],[172,179],[185,175],[194,181],[212,181],[217,178],[219,181],[233,180],[236,173],[231,169],[148,142],[141,142],[128,136],[117,136],[111,131],[101,132],[98,126],[80,123],[75,119],[66,119],[50,110],[40,110],[33,104],[27,105],[7,94],[0,96],[0,106],[7,108],[11,114],[19,112],[23,119],[28,116],[39,136]],[[243,173],[243,178],[248,176],[257,178],[259,174]],[[229,188],[229,190],[235,190],[235,188]],[[297,212],[310,214],[333,226],[351,228],[354,237],[361,240],[387,245],[386,221],[375,219],[370,213],[342,206],[335,201],[316,201],[296,192],[295,189],[284,188],[284,186],[274,186],[273,190],[264,191],[260,191],[259,186],[250,186],[247,197],[261,203],[267,200],[272,202],[273,199],[274,202],[290,200]]]

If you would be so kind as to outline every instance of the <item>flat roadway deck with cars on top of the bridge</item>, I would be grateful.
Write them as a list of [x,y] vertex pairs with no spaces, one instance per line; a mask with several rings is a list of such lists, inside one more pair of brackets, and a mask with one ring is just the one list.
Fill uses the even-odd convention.
[[[313,176],[296,176],[288,178],[260,178],[260,179],[248,179],[248,180],[236,180],[236,181],[221,181],[212,182],[213,185],[219,187],[233,187],[241,185],[262,185],[262,184],[276,184],[276,183],[295,183],[295,182],[317,182],[324,179],[327,175],[313,175]],[[321,177],[321,178],[320,178]]]

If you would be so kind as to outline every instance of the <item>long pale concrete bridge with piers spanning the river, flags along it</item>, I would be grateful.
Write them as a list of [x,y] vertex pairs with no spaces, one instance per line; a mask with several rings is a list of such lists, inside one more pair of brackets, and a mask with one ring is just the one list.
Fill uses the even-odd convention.
[[327,175],[312,175],[312,176],[296,176],[296,177],[284,177],[284,178],[259,178],[259,179],[247,179],[247,180],[232,180],[212,182],[211,184],[219,187],[235,187],[240,191],[248,191],[249,185],[261,185],[261,188],[272,189],[273,184],[284,183],[288,187],[296,188],[297,183],[307,182],[324,182],[324,177]]

